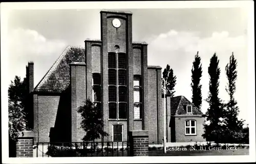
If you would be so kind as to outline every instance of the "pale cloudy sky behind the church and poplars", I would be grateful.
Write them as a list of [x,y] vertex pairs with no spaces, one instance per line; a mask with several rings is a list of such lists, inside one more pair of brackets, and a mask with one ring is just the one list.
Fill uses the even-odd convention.
[[[9,82],[26,74],[34,62],[34,86],[68,45],[84,46],[86,38],[100,39],[101,9],[12,10],[7,19]],[[118,10],[115,8],[115,10]],[[247,8],[123,9],[133,13],[133,41],[148,43],[148,65],[167,64],[177,77],[175,96],[191,101],[191,68],[197,51],[203,74],[202,112],[207,111],[210,58],[216,52],[221,69],[219,96],[227,102],[225,66],[232,52],[238,61],[239,119],[248,123],[248,12]]]

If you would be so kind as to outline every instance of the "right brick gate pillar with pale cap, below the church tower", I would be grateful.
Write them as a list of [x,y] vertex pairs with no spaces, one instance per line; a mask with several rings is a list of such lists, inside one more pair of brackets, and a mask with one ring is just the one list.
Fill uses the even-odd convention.
[[148,131],[129,131],[131,156],[148,156]]

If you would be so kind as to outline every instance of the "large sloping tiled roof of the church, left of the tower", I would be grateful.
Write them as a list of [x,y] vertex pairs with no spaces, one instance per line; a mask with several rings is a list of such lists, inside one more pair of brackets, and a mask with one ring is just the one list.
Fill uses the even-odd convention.
[[35,87],[35,92],[62,92],[70,84],[70,63],[85,62],[85,49],[68,46]]

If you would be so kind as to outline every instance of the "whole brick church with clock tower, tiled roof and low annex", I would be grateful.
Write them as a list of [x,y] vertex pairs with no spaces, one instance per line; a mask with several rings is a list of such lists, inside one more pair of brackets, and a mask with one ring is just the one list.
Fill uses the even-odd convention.
[[168,142],[204,141],[198,108],[183,96],[167,96],[164,109],[162,68],[147,65],[147,43],[133,41],[132,13],[102,10],[100,24],[100,39],[68,46],[35,88],[34,63],[28,63],[34,142],[82,142],[77,108],[86,99],[101,110],[103,130],[110,134],[104,141],[127,141],[129,131],[147,130],[149,142],[161,144],[164,119]]

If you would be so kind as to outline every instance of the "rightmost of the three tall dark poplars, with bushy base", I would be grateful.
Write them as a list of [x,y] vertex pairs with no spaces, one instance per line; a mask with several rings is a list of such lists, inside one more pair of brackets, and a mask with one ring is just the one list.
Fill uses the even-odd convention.
[[[239,142],[242,140],[242,130],[244,121],[238,120],[239,107],[237,101],[234,99],[234,93],[236,92],[236,80],[237,80],[237,60],[234,59],[234,55],[229,58],[229,63],[225,67],[228,84],[226,91],[229,95],[229,101],[226,104],[225,121],[226,126],[230,131],[228,140],[230,142]],[[235,136],[237,135],[237,136]]]

